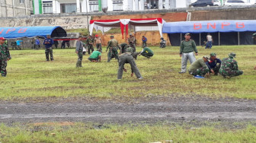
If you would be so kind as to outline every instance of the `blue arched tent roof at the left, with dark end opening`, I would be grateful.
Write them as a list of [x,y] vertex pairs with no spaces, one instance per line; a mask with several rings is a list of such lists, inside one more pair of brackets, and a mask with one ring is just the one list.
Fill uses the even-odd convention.
[[22,37],[66,37],[67,33],[62,27],[0,27],[0,37],[6,39]]

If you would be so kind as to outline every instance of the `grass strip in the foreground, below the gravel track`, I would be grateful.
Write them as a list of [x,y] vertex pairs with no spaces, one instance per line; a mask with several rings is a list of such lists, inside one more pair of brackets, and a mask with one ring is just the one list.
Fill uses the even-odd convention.
[[0,125],[1,142],[255,142],[256,127],[93,125],[59,123]]

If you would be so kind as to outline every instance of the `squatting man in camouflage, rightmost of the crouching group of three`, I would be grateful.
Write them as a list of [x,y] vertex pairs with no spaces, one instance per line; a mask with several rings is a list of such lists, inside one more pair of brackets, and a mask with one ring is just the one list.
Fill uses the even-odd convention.
[[231,52],[228,58],[222,59],[222,64],[219,68],[219,75],[224,78],[231,78],[242,75],[243,71],[238,70],[238,62],[235,61],[235,52]]

